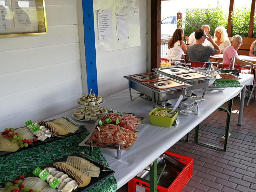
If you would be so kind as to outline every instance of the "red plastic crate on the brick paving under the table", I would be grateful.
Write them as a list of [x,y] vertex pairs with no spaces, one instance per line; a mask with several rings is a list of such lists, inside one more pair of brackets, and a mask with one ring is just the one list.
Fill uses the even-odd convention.
[[[187,184],[188,180],[192,177],[193,172],[193,158],[175,154],[172,152],[165,152],[167,155],[173,156],[178,161],[185,164],[185,168],[180,172],[180,174],[177,176],[177,178],[173,181],[173,183],[168,187],[161,187],[159,185],[156,186],[157,191],[159,192],[179,192],[183,189],[183,187]],[[139,185],[143,188],[145,188],[145,192],[149,192],[149,183],[146,183],[144,181],[141,181],[139,179],[133,178],[128,182],[128,192],[135,192],[136,191],[136,185]]]

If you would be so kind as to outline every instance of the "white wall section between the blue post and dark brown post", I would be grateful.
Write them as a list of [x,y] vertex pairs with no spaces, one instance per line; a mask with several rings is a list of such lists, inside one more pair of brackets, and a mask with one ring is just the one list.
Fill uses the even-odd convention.
[[123,76],[147,71],[147,0],[139,0],[139,14],[140,46],[96,54],[98,94],[103,97],[128,88]]

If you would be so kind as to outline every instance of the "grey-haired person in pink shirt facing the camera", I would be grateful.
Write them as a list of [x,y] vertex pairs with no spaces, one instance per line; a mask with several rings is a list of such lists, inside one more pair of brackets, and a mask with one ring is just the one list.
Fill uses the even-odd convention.
[[[235,57],[235,66],[238,66],[238,65],[251,65],[251,66],[256,66],[254,64],[252,64],[251,62],[247,62],[245,60],[242,60],[242,59],[239,59],[239,56],[238,56],[238,53],[237,53],[237,50],[240,48],[240,46],[243,44],[243,39],[241,36],[239,35],[235,35],[232,37],[231,39],[231,45],[226,47],[226,49],[224,50],[224,53],[223,53],[223,63],[225,65],[229,65],[230,62],[231,62],[231,59],[233,57]],[[242,70],[241,70],[242,73],[250,73],[249,72],[249,69],[247,68],[243,68],[242,67]]]

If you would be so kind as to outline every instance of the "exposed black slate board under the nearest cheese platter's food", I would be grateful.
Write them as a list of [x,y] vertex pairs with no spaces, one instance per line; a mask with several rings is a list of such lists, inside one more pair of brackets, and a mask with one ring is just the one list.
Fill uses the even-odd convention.
[[[80,154],[78,153],[74,153],[74,154],[71,154],[69,156],[79,156],[79,157],[82,157]],[[66,156],[65,158],[63,159],[60,159],[56,162],[62,162],[62,161],[66,161],[68,159],[68,156]],[[100,170],[103,170],[103,165],[101,164],[98,164],[97,162],[95,161],[92,161],[91,159],[87,158],[87,157],[84,157],[84,159],[86,159],[87,161],[90,161],[92,164],[96,165],[97,167],[100,167]],[[47,166],[44,166],[44,167],[40,167],[42,170],[46,167],[52,167],[52,164],[49,164]],[[109,168],[106,168],[105,169],[109,169]],[[110,175],[114,174],[115,172],[113,170],[110,170],[110,171],[101,171],[100,172],[100,175],[99,177],[91,177],[91,181],[90,183],[85,186],[85,187],[80,187],[80,188],[76,188],[75,190],[72,190],[72,192],[83,192],[83,191],[86,191],[88,190],[90,187],[96,185],[97,183],[99,183],[100,181],[108,178]],[[26,177],[36,177],[33,173],[29,174],[29,175],[26,175]]]

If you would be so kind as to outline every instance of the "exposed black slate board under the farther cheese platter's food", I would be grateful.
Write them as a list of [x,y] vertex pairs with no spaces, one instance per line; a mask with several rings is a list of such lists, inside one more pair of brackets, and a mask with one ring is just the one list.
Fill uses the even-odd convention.
[[[66,117],[60,117],[60,118],[66,119]],[[55,119],[49,120],[47,122],[52,122],[54,120]],[[71,121],[69,121],[69,122],[71,122]],[[71,122],[71,123],[73,123],[73,122]],[[60,136],[62,136],[62,137],[69,137],[69,136],[73,136],[73,135],[78,135],[79,136],[81,133],[84,133],[84,125],[79,125],[78,124],[78,126],[79,126],[79,128],[76,130],[75,133],[69,133],[67,135],[60,135]],[[17,128],[17,129],[19,129],[19,128]],[[16,129],[14,129],[14,130],[16,130]],[[14,152],[0,151],[0,157],[6,156],[6,155],[9,155],[9,154],[12,154],[12,153],[17,153],[17,152],[20,152],[20,151],[23,151],[23,150],[26,150],[26,149],[30,149],[32,147],[37,147],[39,145],[44,145],[45,143],[49,143],[49,142],[56,141],[56,140],[59,140],[59,139],[64,139],[64,138],[57,137],[57,136],[56,137],[49,137],[49,138],[45,139],[44,141],[37,140],[36,142],[32,142],[32,144],[29,145],[28,147],[19,148],[17,151],[14,151]]]

